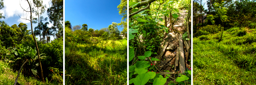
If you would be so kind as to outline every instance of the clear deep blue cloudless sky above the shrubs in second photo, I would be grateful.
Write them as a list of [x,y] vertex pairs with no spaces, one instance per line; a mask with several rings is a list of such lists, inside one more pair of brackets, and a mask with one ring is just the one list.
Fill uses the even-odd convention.
[[88,29],[95,30],[108,27],[112,22],[121,22],[119,4],[120,0],[65,0],[65,21],[72,26],[87,24]]

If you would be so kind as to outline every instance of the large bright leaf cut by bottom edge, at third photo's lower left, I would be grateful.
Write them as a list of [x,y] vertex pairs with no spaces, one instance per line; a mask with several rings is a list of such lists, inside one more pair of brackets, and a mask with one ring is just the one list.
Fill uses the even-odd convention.
[[133,80],[133,84],[134,85],[145,85],[149,79],[150,79],[150,76],[147,73],[144,73],[144,74],[136,76],[136,78]]

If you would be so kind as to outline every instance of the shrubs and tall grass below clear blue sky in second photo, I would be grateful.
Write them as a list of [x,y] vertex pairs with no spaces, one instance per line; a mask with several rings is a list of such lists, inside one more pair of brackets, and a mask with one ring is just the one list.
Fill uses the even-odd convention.
[[102,28],[102,35],[95,35],[91,28],[65,27],[65,84],[127,83],[127,38],[115,37],[120,32],[110,27]]

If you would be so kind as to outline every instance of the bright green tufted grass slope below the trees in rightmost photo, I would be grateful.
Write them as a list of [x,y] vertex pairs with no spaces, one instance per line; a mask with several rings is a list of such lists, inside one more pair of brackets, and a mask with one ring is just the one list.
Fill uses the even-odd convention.
[[193,38],[194,85],[255,85],[256,31],[230,28]]

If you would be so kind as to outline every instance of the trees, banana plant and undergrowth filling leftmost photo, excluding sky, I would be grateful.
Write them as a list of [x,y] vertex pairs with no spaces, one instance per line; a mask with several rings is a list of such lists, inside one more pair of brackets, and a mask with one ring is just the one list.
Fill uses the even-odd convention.
[[[2,1],[0,1],[0,9],[4,7]],[[0,84],[63,84],[63,36],[61,36],[63,35],[63,32],[61,33],[61,22],[63,21],[58,19],[57,21],[51,21],[52,18],[50,18],[50,22],[57,22],[59,23],[58,26],[56,24],[48,27],[49,22],[47,22],[48,24],[44,25],[38,24],[37,27],[43,30],[33,31],[37,27],[33,28],[32,22],[35,23],[37,18],[33,18],[32,15],[36,14],[38,17],[42,17],[45,8],[40,9],[41,13],[38,13],[38,10],[32,11],[32,9],[38,8],[38,5],[42,4],[41,0],[31,2],[25,0],[25,2],[26,5],[29,4],[29,8],[23,10],[30,13],[27,15],[30,16],[30,19],[26,16],[22,19],[31,21],[31,30],[28,30],[27,24],[24,23],[9,26],[5,21],[0,21]],[[49,3],[51,3],[51,6],[59,4],[53,7],[58,8],[55,12],[61,11],[62,0],[58,2],[52,0]],[[61,14],[63,12],[55,13],[55,15],[49,14],[48,16],[63,18]],[[4,18],[4,16],[1,15],[0,18]],[[45,21],[47,21],[47,18],[45,18]],[[38,21],[42,21],[42,18]],[[35,37],[37,35],[42,35],[43,38],[38,39]],[[53,40],[50,39],[50,36],[54,36]]]

